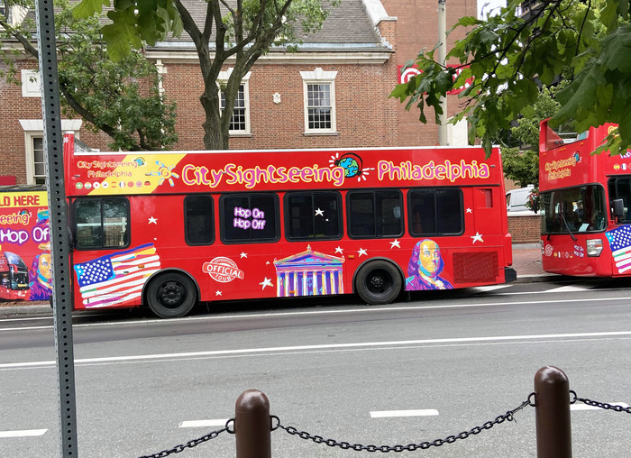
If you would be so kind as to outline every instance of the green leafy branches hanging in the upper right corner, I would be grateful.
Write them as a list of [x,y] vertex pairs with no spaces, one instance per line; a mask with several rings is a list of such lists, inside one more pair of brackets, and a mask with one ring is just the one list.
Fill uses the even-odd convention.
[[[536,115],[533,107],[540,86],[570,81],[557,93],[561,104],[553,123],[573,124],[577,132],[590,125],[619,124],[614,148],[631,146],[631,25],[629,0],[553,0],[539,2],[521,16],[520,2],[510,0],[500,14],[480,21],[462,18],[468,27],[448,59],[470,64],[456,81],[473,78],[460,94],[462,112],[470,123],[470,137],[481,139],[487,152],[510,122]],[[432,53],[419,54],[424,72],[414,84],[400,85],[391,96],[416,105],[440,109],[439,96],[451,87],[450,70],[440,68]],[[553,114],[551,114],[553,115]],[[616,150],[618,151],[618,150]],[[616,152],[612,151],[612,152]]]

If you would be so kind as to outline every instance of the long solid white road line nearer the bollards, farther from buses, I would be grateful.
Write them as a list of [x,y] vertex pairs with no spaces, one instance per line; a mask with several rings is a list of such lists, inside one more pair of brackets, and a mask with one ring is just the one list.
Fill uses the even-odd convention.
[[[347,348],[370,348],[370,347],[397,347],[403,345],[419,344],[463,344],[463,343],[489,343],[489,342],[510,342],[510,341],[533,341],[541,339],[571,339],[571,338],[592,338],[592,337],[621,337],[629,336],[631,331],[612,331],[601,333],[569,333],[569,334],[525,334],[525,335],[495,335],[488,337],[454,337],[449,339],[418,339],[384,342],[358,342],[354,344],[314,344],[314,345],[294,345],[284,347],[263,347],[263,348],[241,348],[235,350],[213,350],[207,352],[189,353],[158,353],[158,354],[138,354],[131,356],[107,356],[103,358],[80,358],[75,360],[75,364],[92,364],[100,362],[130,362],[130,361],[151,361],[182,358],[199,358],[207,356],[239,355],[245,353],[278,353],[297,352],[306,350],[333,350]],[[27,367],[54,366],[54,361],[33,361],[33,362],[6,362],[0,364],[0,369],[15,369]]]

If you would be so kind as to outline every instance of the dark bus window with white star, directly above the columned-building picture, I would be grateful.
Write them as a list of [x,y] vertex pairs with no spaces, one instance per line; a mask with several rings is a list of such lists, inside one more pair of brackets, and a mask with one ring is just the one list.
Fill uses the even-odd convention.
[[286,199],[288,240],[342,237],[342,206],[337,192],[292,192]]

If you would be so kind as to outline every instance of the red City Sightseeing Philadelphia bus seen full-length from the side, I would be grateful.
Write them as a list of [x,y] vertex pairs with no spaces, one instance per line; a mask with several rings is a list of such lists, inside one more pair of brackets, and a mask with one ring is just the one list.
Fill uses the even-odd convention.
[[79,152],[66,139],[75,308],[515,279],[498,151]]

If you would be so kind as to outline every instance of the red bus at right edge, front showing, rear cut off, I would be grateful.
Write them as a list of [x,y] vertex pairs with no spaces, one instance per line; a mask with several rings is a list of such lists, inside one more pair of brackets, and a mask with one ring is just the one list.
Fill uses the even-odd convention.
[[543,267],[563,275],[631,275],[631,151],[592,155],[615,128],[572,138],[540,126]]

